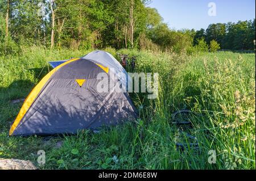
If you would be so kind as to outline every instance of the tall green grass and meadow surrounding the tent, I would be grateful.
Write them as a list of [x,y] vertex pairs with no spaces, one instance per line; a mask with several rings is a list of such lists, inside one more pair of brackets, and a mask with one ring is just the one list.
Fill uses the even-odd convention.
[[[137,56],[134,71],[160,75],[158,99],[131,94],[140,113],[135,123],[49,140],[7,137],[22,104],[11,100],[26,97],[48,72],[46,62],[86,53],[34,47],[1,57],[0,157],[36,164],[37,151],[45,150],[42,169],[255,169],[255,54],[119,50]],[[172,114],[184,109],[195,112],[192,127],[172,123]],[[193,142],[179,130],[195,136],[199,148],[177,149],[176,142]],[[210,150],[216,151],[215,164],[208,162]]]

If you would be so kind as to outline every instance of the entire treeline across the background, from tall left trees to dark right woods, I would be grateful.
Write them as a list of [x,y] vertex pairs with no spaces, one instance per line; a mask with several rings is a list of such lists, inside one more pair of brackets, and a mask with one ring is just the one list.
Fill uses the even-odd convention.
[[0,54],[20,46],[102,49],[254,50],[255,19],[170,30],[150,0],[0,0]]

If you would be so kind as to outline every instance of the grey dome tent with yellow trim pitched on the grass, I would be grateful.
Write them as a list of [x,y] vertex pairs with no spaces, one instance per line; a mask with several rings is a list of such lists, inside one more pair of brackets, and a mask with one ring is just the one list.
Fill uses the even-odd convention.
[[[133,120],[137,113],[127,92],[97,91],[103,73],[127,72],[111,54],[94,51],[82,58],[61,61],[27,96],[10,129],[10,136],[77,133]],[[125,80],[126,81],[126,80]],[[118,85],[118,84],[117,84]]]

